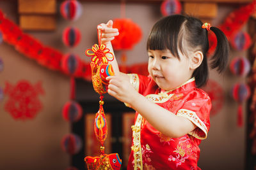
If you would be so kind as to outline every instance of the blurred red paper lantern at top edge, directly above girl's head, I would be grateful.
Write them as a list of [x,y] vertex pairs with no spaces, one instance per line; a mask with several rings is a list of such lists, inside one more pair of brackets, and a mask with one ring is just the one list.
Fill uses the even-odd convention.
[[181,4],[178,0],[165,0],[161,4],[161,13],[163,16],[179,14],[181,12]]

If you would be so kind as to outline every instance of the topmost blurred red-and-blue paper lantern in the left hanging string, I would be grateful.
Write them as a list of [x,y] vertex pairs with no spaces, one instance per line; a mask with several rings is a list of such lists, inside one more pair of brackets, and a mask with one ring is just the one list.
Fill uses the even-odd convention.
[[61,3],[60,13],[67,20],[77,20],[82,14],[82,5],[76,0],[66,0]]

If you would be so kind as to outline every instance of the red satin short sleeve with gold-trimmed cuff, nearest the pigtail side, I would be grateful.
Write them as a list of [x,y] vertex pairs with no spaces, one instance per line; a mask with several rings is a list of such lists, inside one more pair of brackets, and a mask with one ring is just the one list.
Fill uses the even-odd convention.
[[191,93],[189,98],[177,111],[177,116],[186,117],[197,126],[194,131],[189,132],[191,136],[206,139],[210,129],[211,99],[200,90]]

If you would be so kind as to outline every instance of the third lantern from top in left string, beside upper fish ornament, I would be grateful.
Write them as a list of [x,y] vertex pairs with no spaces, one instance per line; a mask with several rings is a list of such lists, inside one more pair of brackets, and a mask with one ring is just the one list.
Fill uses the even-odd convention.
[[81,71],[81,67],[81,60],[77,55],[68,53],[61,59],[61,68],[67,74],[77,74],[79,71]]

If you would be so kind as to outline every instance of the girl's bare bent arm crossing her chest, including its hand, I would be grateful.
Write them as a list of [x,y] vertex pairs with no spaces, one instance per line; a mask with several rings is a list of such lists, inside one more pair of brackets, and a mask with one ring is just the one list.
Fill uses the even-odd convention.
[[109,76],[108,93],[116,99],[131,105],[157,131],[170,138],[179,138],[196,128],[188,118],[179,117],[158,106],[139,94],[128,80],[122,76]]

